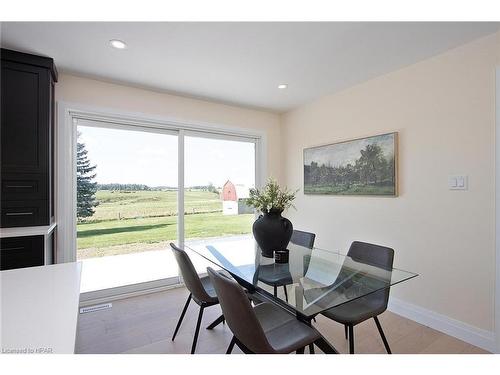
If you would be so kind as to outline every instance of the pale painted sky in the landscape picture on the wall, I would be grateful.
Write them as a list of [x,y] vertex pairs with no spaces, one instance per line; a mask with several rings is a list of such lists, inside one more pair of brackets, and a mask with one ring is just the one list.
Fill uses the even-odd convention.
[[304,151],[304,165],[311,165],[312,161],[319,165],[325,164],[332,167],[354,164],[361,156],[361,150],[368,144],[374,143],[382,148],[386,157],[394,153],[394,133],[391,133],[306,149]]

